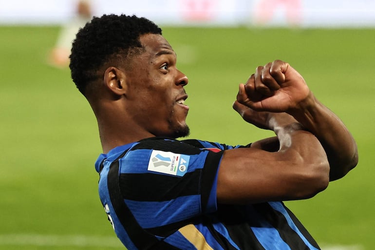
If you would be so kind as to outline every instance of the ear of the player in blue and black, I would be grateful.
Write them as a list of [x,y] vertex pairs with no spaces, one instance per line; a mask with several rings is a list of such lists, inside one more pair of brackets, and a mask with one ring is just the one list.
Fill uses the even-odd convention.
[[126,77],[122,70],[116,67],[109,67],[104,73],[103,81],[113,94],[117,96],[126,94]]

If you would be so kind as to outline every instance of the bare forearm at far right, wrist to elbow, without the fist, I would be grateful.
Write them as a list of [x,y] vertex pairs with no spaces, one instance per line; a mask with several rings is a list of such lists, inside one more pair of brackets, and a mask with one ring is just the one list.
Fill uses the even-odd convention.
[[300,109],[289,114],[319,139],[330,163],[330,180],[343,177],[358,162],[353,136],[338,116],[321,104],[312,93],[300,105]]

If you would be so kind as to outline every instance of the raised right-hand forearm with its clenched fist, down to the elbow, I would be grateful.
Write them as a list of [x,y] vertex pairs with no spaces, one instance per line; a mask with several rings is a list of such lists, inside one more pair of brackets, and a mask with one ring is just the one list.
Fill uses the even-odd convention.
[[257,111],[286,112],[317,136],[330,163],[330,180],[343,177],[358,162],[356,142],[342,121],[321,104],[300,74],[276,60],[258,67],[240,86],[238,101]]

